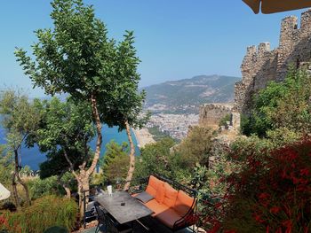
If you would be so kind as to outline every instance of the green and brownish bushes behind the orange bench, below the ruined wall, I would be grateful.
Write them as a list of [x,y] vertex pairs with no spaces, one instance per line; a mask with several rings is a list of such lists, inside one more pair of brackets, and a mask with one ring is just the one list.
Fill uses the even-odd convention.
[[179,145],[175,145],[171,138],[147,144],[137,159],[135,176],[160,174],[179,183],[196,186],[195,177],[199,175],[199,169],[195,167],[208,167],[211,136],[210,128],[195,127]]

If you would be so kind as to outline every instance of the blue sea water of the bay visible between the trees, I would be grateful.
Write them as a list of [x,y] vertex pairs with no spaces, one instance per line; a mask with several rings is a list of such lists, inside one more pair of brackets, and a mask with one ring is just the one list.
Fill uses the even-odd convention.
[[[101,146],[100,157],[104,155],[106,151],[106,144],[108,144],[111,140],[114,140],[118,144],[122,144],[123,142],[127,142],[129,144],[125,130],[122,132],[118,132],[117,127],[108,128],[108,126],[105,125],[103,126],[101,132],[103,136],[103,141]],[[137,146],[137,141],[133,132],[132,137],[135,144],[135,153],[136,155],[139,155],[140,149]],[[0,144],[6,144],[5,131],[4,128],[2,127],[0,127]],[[95,151],[95,145],[96,145],[96,137],[90,143],[92,151]],[[41,153],[39,151],[37,146],[35,146],[34,148],[27,148],[25,147],[25,145],[23,145],[20,150],[20,160],[22,167],[28,165],[31,168],[31,170],[39,170],[40,163],[44,162],[46,160],[46,157],[44,153]]]

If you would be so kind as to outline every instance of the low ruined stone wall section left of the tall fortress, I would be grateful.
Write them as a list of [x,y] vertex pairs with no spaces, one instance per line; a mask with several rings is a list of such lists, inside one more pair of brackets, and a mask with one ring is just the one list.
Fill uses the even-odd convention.
[[219,128],[219,120],[232,112],[233,104],[205,104],[200,106],[199,125]]

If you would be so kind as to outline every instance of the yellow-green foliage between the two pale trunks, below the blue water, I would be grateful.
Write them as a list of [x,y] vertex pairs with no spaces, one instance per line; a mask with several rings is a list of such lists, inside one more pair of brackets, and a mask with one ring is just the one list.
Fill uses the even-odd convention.
[[104,181],[112,181],[116,178],[125,179],[130,162],[128,153],[127,143],[119,145],[111,141],[106,145],[105,155],[100,161]]

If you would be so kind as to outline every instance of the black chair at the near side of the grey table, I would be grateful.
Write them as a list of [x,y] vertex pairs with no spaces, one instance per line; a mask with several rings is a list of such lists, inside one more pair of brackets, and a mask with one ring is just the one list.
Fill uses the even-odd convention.
[[99,221],[95,233],[100,232],[100,227],[103,226],[107,233],[128,233],[132,232],[132,226],[129,224],[118,223],[113,216],[108,214],[107,210],[100,208],[99,203],[95,203],[95,210],[97,213],[97,220]]

